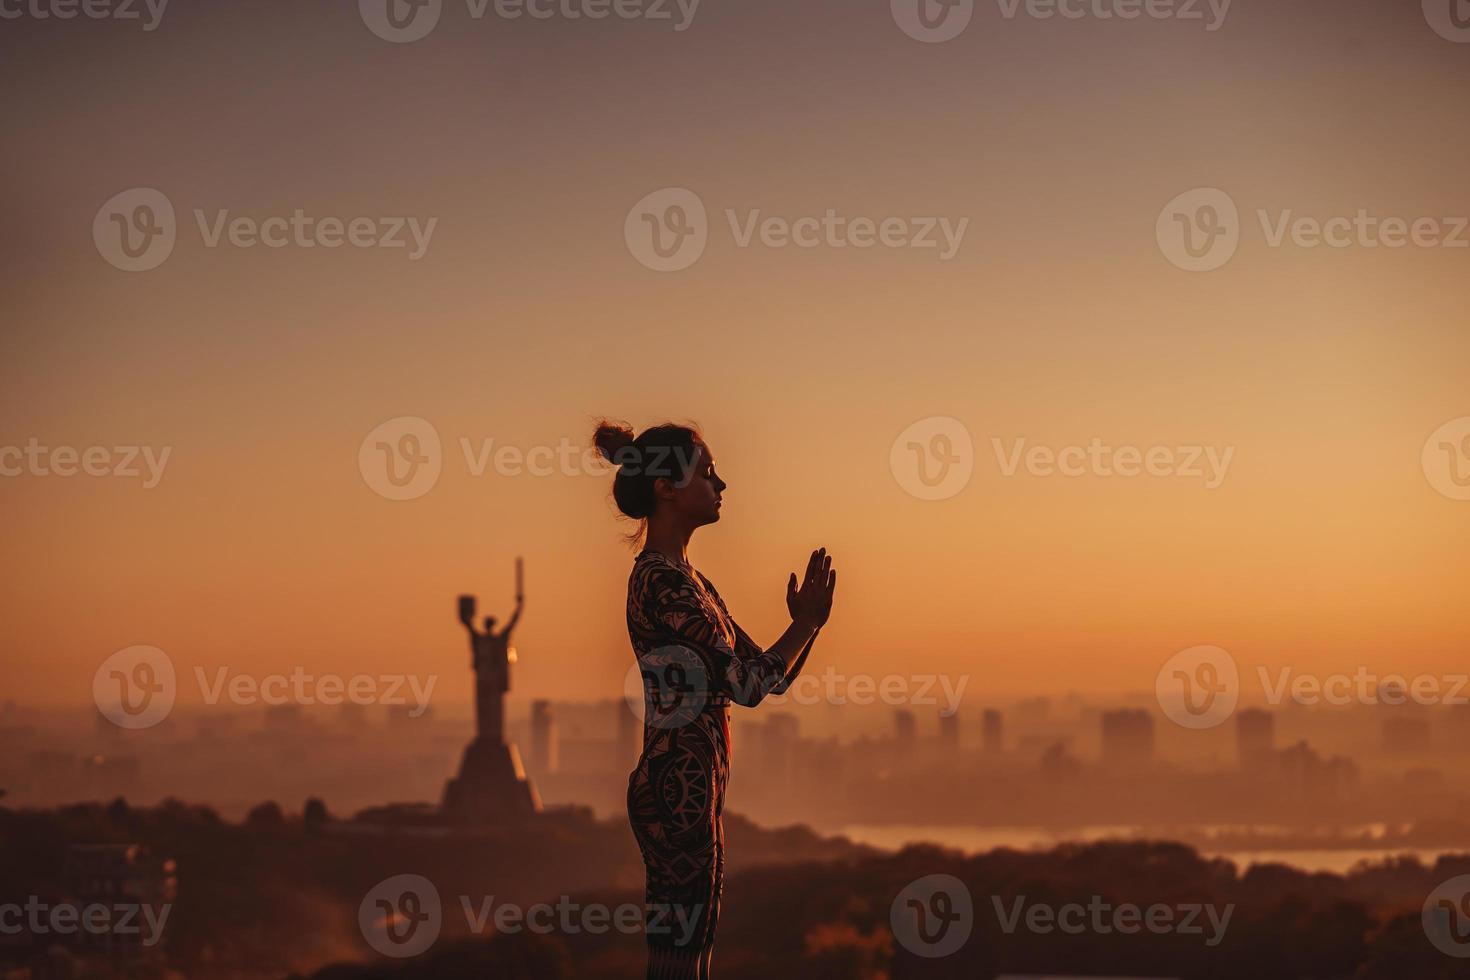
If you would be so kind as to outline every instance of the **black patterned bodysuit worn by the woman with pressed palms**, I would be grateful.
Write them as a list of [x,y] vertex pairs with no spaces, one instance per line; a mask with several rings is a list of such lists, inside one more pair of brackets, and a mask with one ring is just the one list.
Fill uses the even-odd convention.
[[645,695],[628,818],[648,874],[648,979],[703,977],[725,876],[729,705],[784,691],[800,663],[786,679],[782,658],[735,623],[709,579],[657,551],[634,560],[628,636]]

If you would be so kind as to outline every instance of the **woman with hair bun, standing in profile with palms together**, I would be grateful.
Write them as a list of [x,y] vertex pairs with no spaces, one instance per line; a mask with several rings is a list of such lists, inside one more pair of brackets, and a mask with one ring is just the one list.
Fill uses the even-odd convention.
[[832,613],[825,548],[786,582],[791,626],[761,649],[714,585],[689,564],[689,538],[720,519],[725,480],[700,433],[662,425],[637,439],[604,422],[594,442],[617,464],[613,500],[644,541],[628,579],[628,636],[644,677],[644,748],[628,779],[628,818],[648,874],[648,979],[706,979],[725,876],[731,702],[784,692]]

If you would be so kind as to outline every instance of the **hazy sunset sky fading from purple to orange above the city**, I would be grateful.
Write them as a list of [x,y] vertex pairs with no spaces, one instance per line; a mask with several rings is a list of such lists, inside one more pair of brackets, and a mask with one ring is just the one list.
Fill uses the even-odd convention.
[[[0,698],[84,702],[109,654],[151,644],[184,671],[440,673],[457,710],[454,597],[509,611],[517,554],[514,696],[616,695],[632,552],[609,480],[473,476],[460,444],[582,447],[600,414],[704,428],[731,488],[694,558],[759,638],[832,550],[823,667],[967,673],[978,701],[1151,689],[1197,644],[1464,670],[1470,502],[1421,450],[1470,416],[1470,248],[1272,244],[1301,216],[1470,215],[1470,44],[1417,3],[1238,0],[1211,31],[1205,4],[982,1],[933,44],[872,0],[704,0],[682,31],[445,0],[413,43],[345,1],[175,0],[151,31],[4,9],[26,12],[0,19],[0,445],[171,454],[147,489],[0,478]],[[176,213],[146,272],[93,235],[129,188]],[[625,238],[662,188],[707,210],[678,272]],[[1239,210],[1213,272],[1155,237],[1192,188]],[[417,259],[407,231],[209,245],[297,209],[434,225]],[[950,259],[739,244],[753,212],[829,209],[967,223]],[[390,501],[359,450],[404,416],[442,473]],[[926,501],[891,448],[935,416],[964,425],[973,476]],[[1229,467],[1213,489],[1004,473],[1020,439],[1094,438]]]

